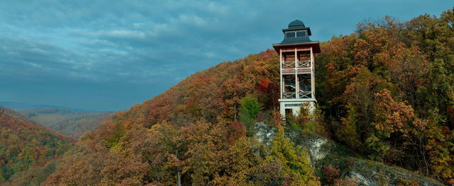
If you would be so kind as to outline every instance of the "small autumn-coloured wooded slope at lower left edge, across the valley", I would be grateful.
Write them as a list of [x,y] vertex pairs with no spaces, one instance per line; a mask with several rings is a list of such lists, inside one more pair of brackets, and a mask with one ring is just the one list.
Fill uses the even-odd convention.
[[[21,118],[22,117],[22,118]],[[0,108],[0,185],[8,185],[11,181],[21,180],[28,170],[46,170],[46,163],[55,161],[71,146],[73,140],[45,129],[38,124],[24,120],[23,116]],[[39,176],[38,179],[23,180],[26,185],[36,185],[55,171],[29,173]],[[3,184],[2,184],[3,183]],[[33,184],[34,183],[34,184]]]

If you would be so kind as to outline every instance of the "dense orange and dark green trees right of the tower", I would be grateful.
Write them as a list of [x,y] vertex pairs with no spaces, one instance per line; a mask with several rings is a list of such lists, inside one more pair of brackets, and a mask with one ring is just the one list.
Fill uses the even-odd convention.
[[323,43],[316,91],[335,139],[454,185],[453,22],[387,17]]

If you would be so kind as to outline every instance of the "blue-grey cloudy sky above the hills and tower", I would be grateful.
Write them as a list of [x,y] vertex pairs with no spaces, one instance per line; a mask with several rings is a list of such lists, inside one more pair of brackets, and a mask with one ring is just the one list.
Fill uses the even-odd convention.
[[312,40],[431,1],[0,1],[0,101],[125,110],[196,71],[267,50],[298,18]]

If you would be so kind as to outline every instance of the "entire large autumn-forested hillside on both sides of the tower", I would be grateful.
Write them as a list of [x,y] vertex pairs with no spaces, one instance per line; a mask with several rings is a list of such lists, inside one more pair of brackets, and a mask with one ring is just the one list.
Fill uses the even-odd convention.
[[[315,115],[280,117],[273,50],[200,71],[82,136],[43,185],[358,184],[343,172],[351,162],[312,167],[293,133],[454,185],[453,23],[452,10],[387,17],[323,42]],[[419,185],[393,176],[382,184]]]

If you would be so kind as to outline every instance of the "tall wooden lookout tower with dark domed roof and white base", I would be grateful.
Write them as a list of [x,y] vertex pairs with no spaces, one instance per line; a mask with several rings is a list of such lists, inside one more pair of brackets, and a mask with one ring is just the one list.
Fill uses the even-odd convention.
[[298,115],[303,104],[314,112],[314,53],[320,53],[319,41],[309,40],[311,29],[299,20],[282,32],[284,40],[272,45],[280,55],[280,113]]

